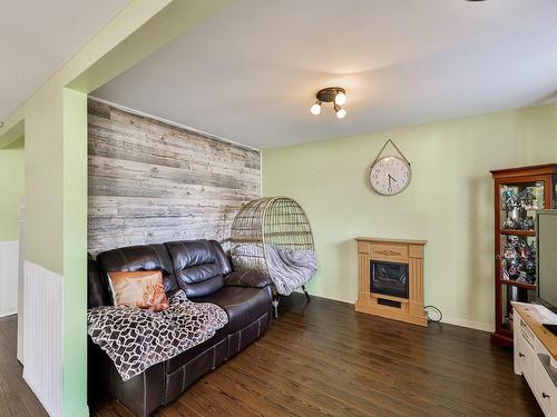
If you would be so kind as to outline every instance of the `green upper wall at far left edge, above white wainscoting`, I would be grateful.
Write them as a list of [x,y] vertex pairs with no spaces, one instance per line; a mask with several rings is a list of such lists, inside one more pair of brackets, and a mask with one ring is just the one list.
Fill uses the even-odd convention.
[[19,239],[19,198],[25,196],[23,138],[0,149],[0,241]]

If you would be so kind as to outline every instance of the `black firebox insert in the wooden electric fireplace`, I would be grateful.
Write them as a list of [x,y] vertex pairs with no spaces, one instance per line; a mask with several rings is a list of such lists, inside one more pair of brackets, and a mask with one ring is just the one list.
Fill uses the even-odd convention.
[[371,292],[408,299],[408,264],[370,261]]

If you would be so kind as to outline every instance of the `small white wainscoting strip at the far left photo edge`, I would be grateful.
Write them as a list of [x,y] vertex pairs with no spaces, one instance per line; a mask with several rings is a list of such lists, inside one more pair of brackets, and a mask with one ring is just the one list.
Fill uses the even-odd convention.
[[19,242],[0,241],[0,317],[18,312]]

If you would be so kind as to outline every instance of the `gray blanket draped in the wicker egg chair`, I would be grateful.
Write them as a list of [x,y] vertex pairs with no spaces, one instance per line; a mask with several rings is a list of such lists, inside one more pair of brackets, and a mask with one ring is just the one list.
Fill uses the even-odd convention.
[[317,259],[313,250],[295,250],[266,246],[267,268],[276,291],[289,296],[305,285],[317,272]]

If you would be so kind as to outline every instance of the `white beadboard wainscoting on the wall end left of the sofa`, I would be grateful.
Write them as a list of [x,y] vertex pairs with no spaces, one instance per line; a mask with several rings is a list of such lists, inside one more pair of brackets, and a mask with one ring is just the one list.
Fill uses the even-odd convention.
[[62,409],[62,277],[25,261],[23,379],[51,417]]

